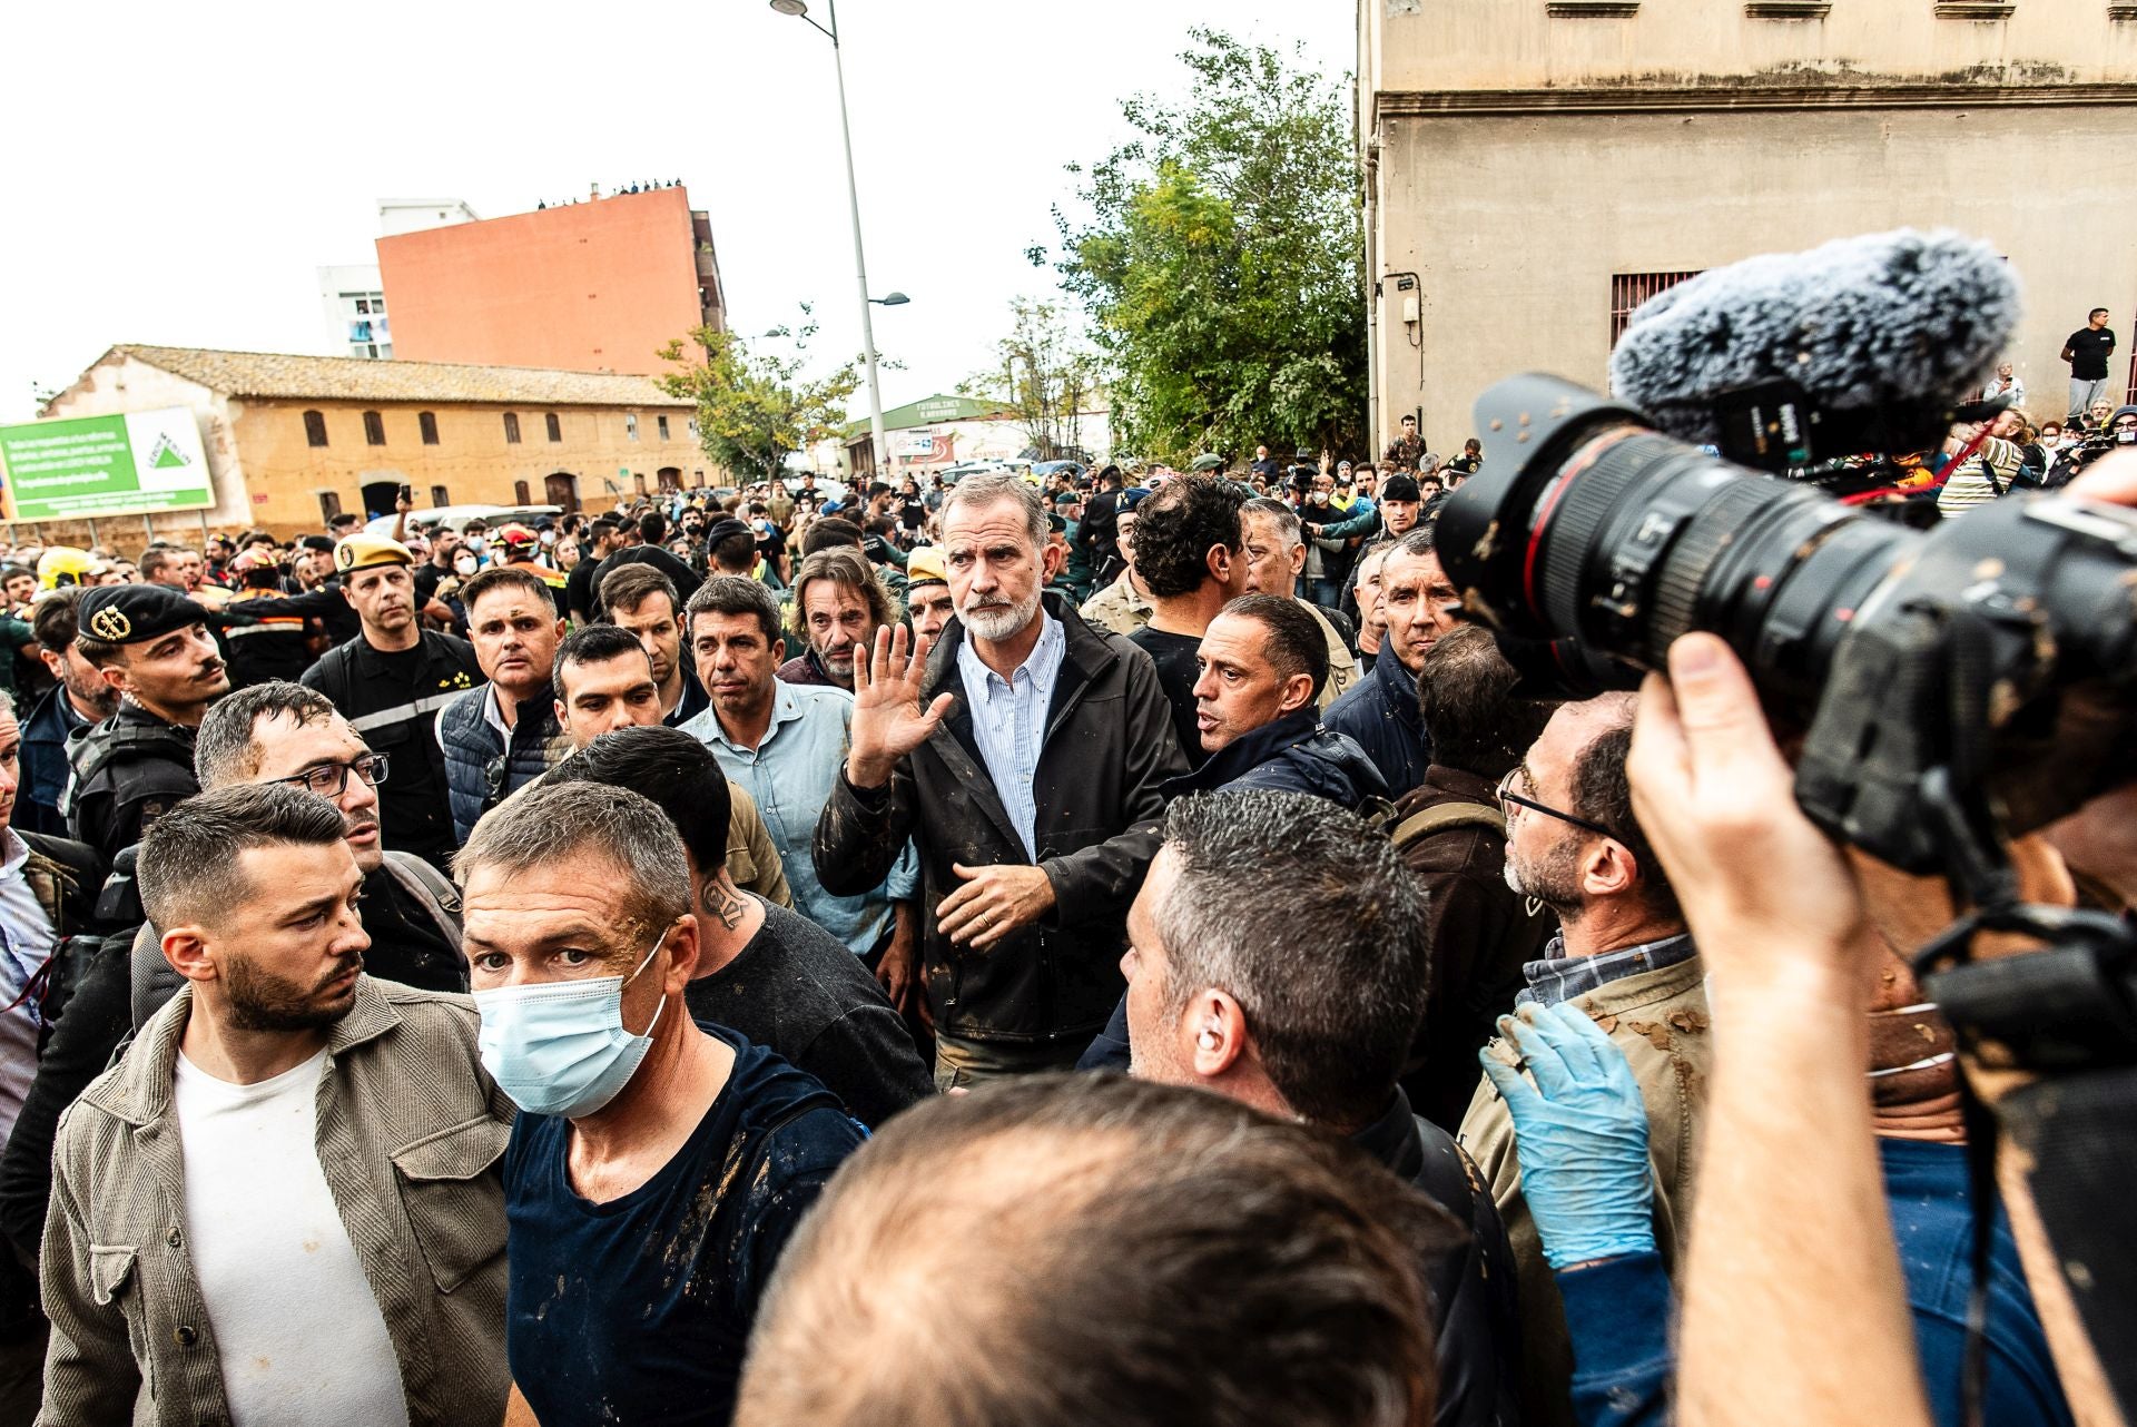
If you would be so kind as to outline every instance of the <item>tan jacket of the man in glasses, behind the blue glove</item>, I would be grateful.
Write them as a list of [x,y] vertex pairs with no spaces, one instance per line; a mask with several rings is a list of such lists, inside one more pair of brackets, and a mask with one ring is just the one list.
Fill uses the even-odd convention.
[[[1564,983],[1562,976],[1551,981]],[[1678,1265],[1690,1228],[1701,1111],[1714,1062],[1705,966],[1693,955],[1658,970],[1607,981],[1577,993],[1573,1002],[1609,1032],[1633,1064],[1633,1079],[1648,1107],[1648,1156],[1654,1160],[1654,1243],[1665,1263]],[[1564,1307],[1558,1301],[1551,1267],[1543,1260],[1537,1222],[1522,1198],[1513,1119],[1492,1081],[1481,1075],[1460,1139],[1489,1179],[1492,1198],[1513,1243],[1522,1297],[1522,1421],[1532,1427],[1571,1427],[1573,1346],[1566,1337]]]

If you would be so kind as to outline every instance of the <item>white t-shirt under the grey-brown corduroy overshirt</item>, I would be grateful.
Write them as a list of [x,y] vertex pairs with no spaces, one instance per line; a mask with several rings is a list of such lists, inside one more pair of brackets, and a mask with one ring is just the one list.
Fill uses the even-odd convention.
[[173,1066],[192,1271],[248,1423],[406,1427],[400,1359],[318,1166],[327,1051],[256,1085]]

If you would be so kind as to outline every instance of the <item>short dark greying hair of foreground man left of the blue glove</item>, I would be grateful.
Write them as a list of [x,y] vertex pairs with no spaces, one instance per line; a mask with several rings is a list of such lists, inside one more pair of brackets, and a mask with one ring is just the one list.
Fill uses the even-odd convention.
[[1291,1109],[1370,1124],[1425,1015],[1425,891],[1393,844],[1323,797],[1248,790],[1173,801],[1165,850],[1180,874],[1154,914],[1167,1015],[1231,993]]

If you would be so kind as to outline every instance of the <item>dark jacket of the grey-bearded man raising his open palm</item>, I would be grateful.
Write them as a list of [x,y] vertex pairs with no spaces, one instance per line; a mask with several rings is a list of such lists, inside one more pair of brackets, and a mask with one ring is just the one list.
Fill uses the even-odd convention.
[[816,876],[833,895],[878,887],[906,837],[921,854],[927,1008],[966,1040],[1083,1047],[1120,1000],[1128,904],[1158,852],[1167,778],[1186,771],[1150,656],[1049,598],[1066,647],[1032,778],[1039,865],[1054,910],[994,951],[951,946],[936,906],[962,887],[951,863],[1032,865],[987,775],[957,675],[964,622],[927,658],[925,699],[957,699],[942,726],[900,758],[891,782],[857,790],[840,773],[816,820]]

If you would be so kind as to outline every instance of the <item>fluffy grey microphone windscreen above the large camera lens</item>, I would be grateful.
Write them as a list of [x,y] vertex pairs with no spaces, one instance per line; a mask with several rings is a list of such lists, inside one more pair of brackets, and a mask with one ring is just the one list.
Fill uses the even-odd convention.
[[1925,427],[1987,378],[2017,314],[2011,265],[1979,239],[1842,237],[1648,299],[1611,355],[1611,391],[1693,442],[1718,440],[1718,395],[1782,380],[1838,414]]

